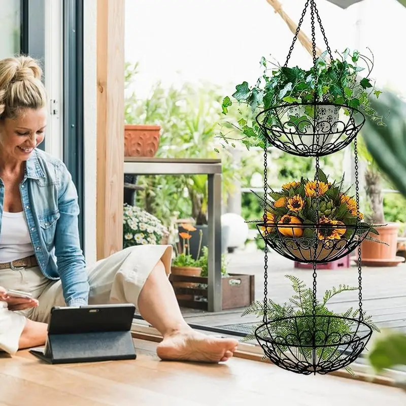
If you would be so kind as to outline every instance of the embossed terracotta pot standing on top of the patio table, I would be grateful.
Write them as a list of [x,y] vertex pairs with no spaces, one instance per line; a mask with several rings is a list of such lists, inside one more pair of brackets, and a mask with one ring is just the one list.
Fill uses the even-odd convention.
[[159,125],[125,125],[124,156],[155,156],[160,129]]

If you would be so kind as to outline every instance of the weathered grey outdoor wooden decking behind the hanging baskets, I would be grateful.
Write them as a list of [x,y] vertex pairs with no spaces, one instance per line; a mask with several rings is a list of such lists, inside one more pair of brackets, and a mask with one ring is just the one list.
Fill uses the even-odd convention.
[[[255,298],[263,299],[263,252],[252,246],[227,255],[228,270],[236,274],[255,275]],[[285,302],[293,293],[286,274],[295,275],[312,284],[312,270],[295,269],[293,262],[276,253],[269,254],[268,297]],[[363,267],[363,306],[382,328],[397,328],[406,331],[406,264],[396,267]],[[358,269],[320,270],[318,272],[318,294],[322,297],[325,289],[340,284],[358,286]],[[331,310],[345,311],[358,306],[358,291],[345,292],[331,299]],[[241,317],[244,309],[226,310],[219,313],[182,309],[189,323],[205,326],[222,326],[234,323],[248,323],[255,318]]]

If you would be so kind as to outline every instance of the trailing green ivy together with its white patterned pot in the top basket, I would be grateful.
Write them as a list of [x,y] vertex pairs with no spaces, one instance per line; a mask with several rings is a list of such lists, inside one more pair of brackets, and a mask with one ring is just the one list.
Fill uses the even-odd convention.
[[[294,127],[304,145],[316,142],[309,141],[311,137],[306,137],[306,134],[315,129],[325,133],[317,142],[320,145],[328,144],[328,137],[336,132],[336,126],[339,125],[340,111],[344,115],[350,115],[346,107],[359,110],[383,124],[382,117],[371,107],[368,98],[371,93],[376,97],[381,93],[375,90],[368,78],[373,69],[373,58],[358,51],[351,53],[348,48],[342,54],[337,51],[336,54],[336,58],[329,60],[328,52],[323,52],[317,58],[316,68],[313,66],[309,70],[298,66],[276,65],[262,57],[260,65],[263,67],[263,74],[256,84],[250,86],[244,81],[235,87],[236,91],[231,97],[226,96],[223,99],[223,114],[238,117],[234,122],[226,121],[223,124],[220,132],[223,141],[229,144],[229,133],[236,129],[242,134],[239,141],[247,148],[263,147],[264,134],[255,118],[275,106],[280,107],[277,113],[270,112],[262,117],[267,121],[265,126],[275,125],[283,130]],[[365,62],[368,70],[364,78],[358,76],[365,69],[360,66],[361,61]],[[317,108],[313,104],[316,94],[323,103]],[[236,101],[238,113],[235,113],[233,101]]]

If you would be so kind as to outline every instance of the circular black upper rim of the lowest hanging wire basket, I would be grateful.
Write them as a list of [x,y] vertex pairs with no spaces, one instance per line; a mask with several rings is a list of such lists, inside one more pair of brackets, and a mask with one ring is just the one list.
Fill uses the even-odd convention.
[[[258,330],[260,330],[261,328],[263,329],[264,327],[266,328],[267,326],[276,323],[276,322],[280,322],[280,321],[287,321],[287,320],[294,320],[294,319],[304,319],[304,318],[334,318],[334,319],[342,319],[342,320],[347,320],[347,321],[352,321],[355,323],[358,323],[358,327],[360,325],[363,325],[364,327],[367,328],[367,332],[364,333],[364,335],[359,336],[359,335],[355,335],[357,332],[350,332],[346,335],[351,335],[354,334],[354,338],[352,340],[349,341],[344,341],[344,342],[339,342],[339,343],[335,343],[335,344],[308,344],[308,345],[302,345],[302,344],[288,344],[288,343],[281,343],[280,341],[277,340],[273,340],[272,337],[261,337],[258,334]],[[337,346],[345,346],[345,345],[351,345],[353,343],[357,343],[360,341],[364,341],[364,340],[369,340],[370,336],[372,335],[372,328],[369,326],[368,323],[365,323],[363,320],[360,319],[355,319],[352,317],[344,317],[344,316],[337,316],[337,315],[301,315],[301,316],[289,316],[289,317],[278,317],[276,319],[272,319],[272,320],[268,320],[264,323],[262,323],[261,325],[259,325],[254,332],[254,335],[256,337],[256,339],[258,341],[263,341],[266,343],[271,343],[271,344],[275,344],[275,345],[279,345],[279,346],[286,346],[286,347],[293,347],[293,348],[325,348],[325,347],[337,347]]]

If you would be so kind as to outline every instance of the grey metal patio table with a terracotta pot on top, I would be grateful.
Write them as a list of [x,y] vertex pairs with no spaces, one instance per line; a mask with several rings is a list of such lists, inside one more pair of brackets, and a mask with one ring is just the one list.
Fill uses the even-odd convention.
[[125,157],[124,174],[208,176],[208,310],[221,311],[221,159]]

